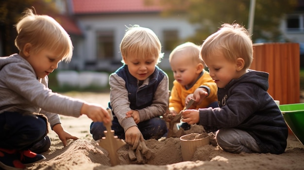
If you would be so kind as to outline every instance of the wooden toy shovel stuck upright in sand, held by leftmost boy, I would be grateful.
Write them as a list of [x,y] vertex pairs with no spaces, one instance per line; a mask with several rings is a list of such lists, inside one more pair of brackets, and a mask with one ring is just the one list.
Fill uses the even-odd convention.
[[[112,111],[110,109],[107,110],[113,120]],[[102,137],[99,142],[99,146],[109,152],[110,163],[112,166],[119,165],[117,150],[123,145],[125,145],[126,142],[122,139],[118,139],[117,136],[114,136],[114,130],[111,129],[112,122],[110,122],[109,124],[104,124],[104,126],[107,130],[104,131],[105,137]]]

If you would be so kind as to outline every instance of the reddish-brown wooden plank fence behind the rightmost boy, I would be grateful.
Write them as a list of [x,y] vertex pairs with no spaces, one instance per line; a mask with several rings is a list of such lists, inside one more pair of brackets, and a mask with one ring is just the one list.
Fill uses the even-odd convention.
[[280,104],[300,103],[298,43],[253,44],[251,69],[269,73],[268,93]]

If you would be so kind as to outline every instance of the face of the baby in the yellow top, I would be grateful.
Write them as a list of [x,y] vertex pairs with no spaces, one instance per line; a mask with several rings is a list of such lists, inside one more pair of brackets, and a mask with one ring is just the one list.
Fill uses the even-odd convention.
[[170,61],[174,79],[182,86],[191,86],[203,70],[197,70],[197,65],[190,56],[175,54]]

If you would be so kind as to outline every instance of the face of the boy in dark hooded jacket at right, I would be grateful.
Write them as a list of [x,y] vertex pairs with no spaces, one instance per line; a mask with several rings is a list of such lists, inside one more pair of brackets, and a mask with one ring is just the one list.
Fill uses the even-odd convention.
[[219,88],[224,88],[232,79],[239,77],[236,63],[228,61],[222,52],[208,57],[204,62],[209,68],[210,76]]

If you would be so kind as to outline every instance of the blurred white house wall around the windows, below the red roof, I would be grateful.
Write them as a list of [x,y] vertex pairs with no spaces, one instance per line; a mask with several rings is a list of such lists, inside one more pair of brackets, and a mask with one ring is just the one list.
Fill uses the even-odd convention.
[[[160,17],[158,14],[117,14],[117,15],[84,15],[78,16],[80,28],[84,32],[84,48],[82,57],[84,61],[94,61],[97,56],[96,49],[96,31],[113,30],[115,36],[115,52],[114,60],[120,61],[121,55],[119,53],[119,44],[124,36],[126,26],[140,25],[142,27],[150,28],[154,31],[161,42],[163,42],[163,31],[169,29],[178,30],[179,39],[185,39],[194,34],[195,28],[190,25],[186,19],[181,16],[177,17]],[[79,46],[78,46],[79,47]],[[81,51],[75,51],[81,52]],[[169,68],[168,55],[161,62],[160,66]]]

